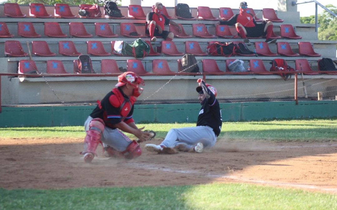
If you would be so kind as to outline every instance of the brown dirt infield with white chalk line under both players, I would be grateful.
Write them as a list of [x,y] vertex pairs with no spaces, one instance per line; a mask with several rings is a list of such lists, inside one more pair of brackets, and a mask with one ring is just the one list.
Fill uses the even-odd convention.
[[[147,143],[160,143],[159,139]],[[83,139],[0,139],[0,187],[69,188],[248,182],[337,193],[337,142],[218,140],[204,153],[83,162]]]

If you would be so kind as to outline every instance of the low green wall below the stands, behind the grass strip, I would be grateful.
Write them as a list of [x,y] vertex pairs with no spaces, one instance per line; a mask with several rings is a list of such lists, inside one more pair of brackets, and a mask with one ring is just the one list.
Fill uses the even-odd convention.
[[[337,117],[337,101],[272,101],[220,103],[223,121],[275,118]],[[0,127],[83,125],[95,106],[3,107]],[[133,118],[138,122],[196,122],[200,104],[135,105]]]

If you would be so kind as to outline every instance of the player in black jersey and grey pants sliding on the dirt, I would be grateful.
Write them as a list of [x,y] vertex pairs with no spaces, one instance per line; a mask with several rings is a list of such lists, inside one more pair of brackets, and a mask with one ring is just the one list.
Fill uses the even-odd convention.
[[175,154],[178,151],[201,153],[206,146],[214,146],[222,125],[221,110],[216,89],[202,79],[197,81],[198,99],[201,103],[196,127],[173,128],[168,131],[161,144],[146,144],[151,152]]

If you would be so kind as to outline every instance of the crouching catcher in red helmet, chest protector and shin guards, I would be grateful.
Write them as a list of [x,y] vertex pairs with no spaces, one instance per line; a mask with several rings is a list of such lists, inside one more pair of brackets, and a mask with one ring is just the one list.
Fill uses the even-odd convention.
[[[118,83],[89,115],[84,123],[87,135],[84,139],[84,161],[90,163],[99,143],[103,144],[107,157],[136,158],[142,154],[138,142],[148,140],[151,133],[137,128],[132,119],[133,104],[141,94],[144,80],[133,72],[118,76]],[[123,132],[132,133],[138,141],[129,139]],[[97,156],[97,155],[96,155]]]

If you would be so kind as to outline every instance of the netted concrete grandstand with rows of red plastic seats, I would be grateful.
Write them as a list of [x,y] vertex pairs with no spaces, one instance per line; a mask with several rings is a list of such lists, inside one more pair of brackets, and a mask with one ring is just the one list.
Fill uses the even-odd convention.
[[[117,17],[103,5],[6,3],[0,23],[0,74],[38,76],[1,76],[1,106],[94,104],[125,71],[146,81],[137,103],[198,102],[196,79],[203,74],[221,102],[294,100],[294,72],[291,78],[279,72],[287,66],[299,73],[298,99],[316,99],[317,92],[335,99],[337,75],[319,68],[318,61],[336,60],[336,42],[317,40],[315,25],[301,24],[297,11],[240,6],[241,12],[239,5],[222,3],[218,8],[129,5],[118,6]],[[156,8],[157,13],[147,15]],[[156,22],[153,32],[146,28],[147,20],[148,25]],[[167,32],[160,33],[160,22]],[[138,38],[151,49],[116,51],[117,41],[126,46]],[[192,56],[183,66],[186,53]],[[85,54],[90,60],[80,59]],[[286,64],[272,69],[272,61],[280,58]]]

